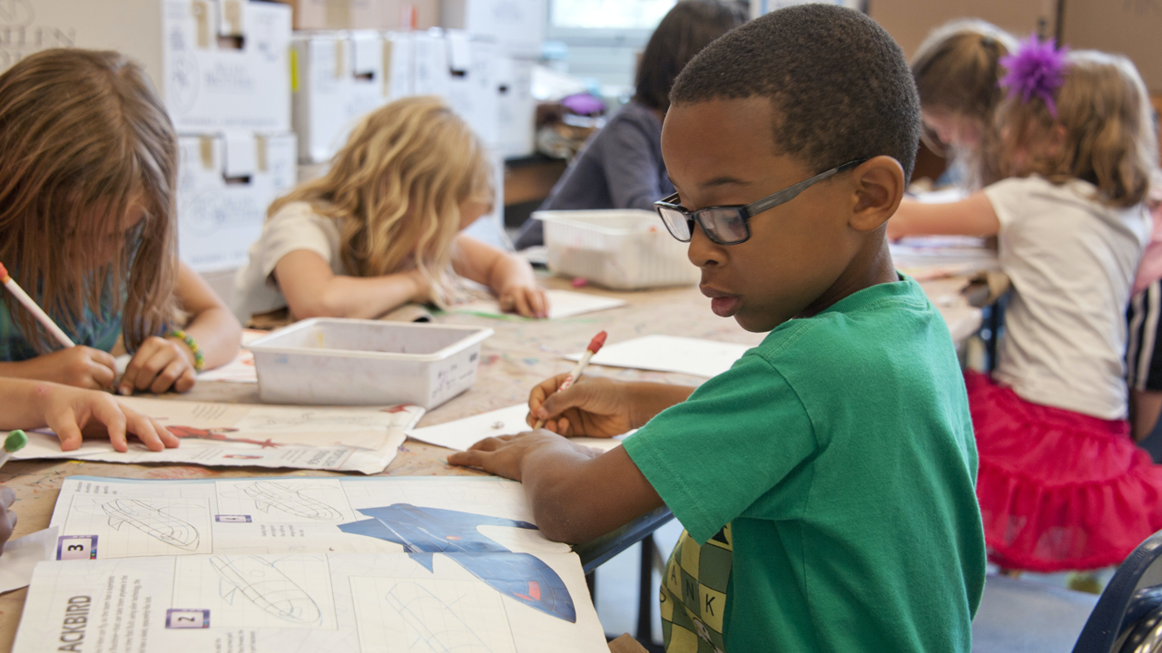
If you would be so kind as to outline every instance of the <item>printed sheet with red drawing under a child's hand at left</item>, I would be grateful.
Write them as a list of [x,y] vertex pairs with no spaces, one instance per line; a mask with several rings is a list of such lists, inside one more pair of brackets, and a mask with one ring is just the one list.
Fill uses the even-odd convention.
[[[199,403],[148,397],[119,397],[129,408],[157,419],[181,445],[150,451],[130,439],[119,453],[107,439],[86,439],[80,449],[60,451],[52,431],[31,431],[16,460],[67,458],[101,462],[184,462],[207,466],[289,467],[378,474],[395,459],[407,430],[423,416],[418,406],[389,408],[318,408],[235,403]],[[0,436],[2,437],[2,436]]]

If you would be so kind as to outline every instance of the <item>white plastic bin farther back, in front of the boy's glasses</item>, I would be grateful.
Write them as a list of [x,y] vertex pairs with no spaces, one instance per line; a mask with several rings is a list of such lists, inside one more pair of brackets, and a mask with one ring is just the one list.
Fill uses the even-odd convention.
[[688,245],[669,235],[647,210],[545,210],[548,270],[583,277],[617,290],[689,286],[702,278],[686,256]]

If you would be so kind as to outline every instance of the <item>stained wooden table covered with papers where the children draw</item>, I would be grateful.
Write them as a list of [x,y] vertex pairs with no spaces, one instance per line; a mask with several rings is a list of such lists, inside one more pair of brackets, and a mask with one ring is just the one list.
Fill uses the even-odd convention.
[[[567,288],[562,279],[546,278],[551,288]],[[969,304],[961,290],[968,278],[952,278],[925,282],[924,287],[940,309],[955,339],[961,340],[981,325],[981,311]],[[584,349],[602,329],[609,331],[609,342],[617,343],[662,333],[687,336],[755,345],[765,333],[749,333],[733,320],[723,320],[710,311],[710,300],[696,287],[660,289],[637,293],[612,293],[595,288],[584,292],[616,296],[626,306],[578,316],[548,321],[519,318],[494,320],[474,315],[450,314],[437,317],[449,324],[492,326],[496,333],[485,340],[481,350],[476,382],[471,390],[432,410],[421,421],[428,426],[479,412],[504,408],[528,400],[537,381],[567,372],[574,365],[561,357]],[[645,372],[615,367],[590,367],[590,373],[624,380],[651,380],[664,383],[697,385],[704,379],[684,374]],[[258,388],[244,383],[199,383],[185,395],[167,399],[189,401],[221,401],[230,403],[259,403]],[[382,475],[473,475],[476,469],[447,465],[449,450],[408,440],[400,447],[395,460]],[[114,476],[127,479],[218,479],[230,476],[327,476],[339,475],[322,471],[275,471],[259,467],[200,467],[193,465],[116,465],[79,460],[12,461],[0,469],[0,482],[16,493],[14,505],[20,521],[14,537],[34,532],[49,525],[52,508],[62,481],[72,475]],[[600,564],[616,552],[650,534],[664,523],[668,511],[659,511],[640,522],[627,525],[616,537],[598,538],[579,547],[591,564]],[[650,525],[653,528],[648,528]],[[9,651],[16,634],[26,589],[0,595],[0,651]]]

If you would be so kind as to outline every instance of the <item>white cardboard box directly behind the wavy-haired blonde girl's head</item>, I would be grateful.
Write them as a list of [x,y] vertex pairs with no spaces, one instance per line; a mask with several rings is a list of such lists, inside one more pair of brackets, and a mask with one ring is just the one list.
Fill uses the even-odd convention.
[[292,113],[300,163],[330,159],[360,117],[411,94],[409,34],[299,33],[293,48]]

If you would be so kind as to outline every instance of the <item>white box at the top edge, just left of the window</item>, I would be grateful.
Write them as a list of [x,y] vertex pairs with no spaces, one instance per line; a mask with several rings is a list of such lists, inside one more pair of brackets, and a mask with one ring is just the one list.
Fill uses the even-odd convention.
[[540,57],[547,0],[443,0],[440,26],[495,38],[501,52]]

